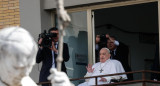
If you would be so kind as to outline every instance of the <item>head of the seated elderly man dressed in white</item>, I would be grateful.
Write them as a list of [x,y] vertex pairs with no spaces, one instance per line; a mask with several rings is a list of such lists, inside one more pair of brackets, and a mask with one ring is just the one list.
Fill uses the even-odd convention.
[[104,63],[106,60],[108,60],[110,58],[110,53],[106,50],[106,49],[101,49],[100,50],[100,62]]

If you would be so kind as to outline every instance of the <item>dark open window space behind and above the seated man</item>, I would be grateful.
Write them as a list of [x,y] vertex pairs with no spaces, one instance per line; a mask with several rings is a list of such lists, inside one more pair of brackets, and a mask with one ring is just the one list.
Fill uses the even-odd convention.
[[[96,9],[95,35],[110,34],[129,47],[133,71],[150,70],[159,45],[158,2]],[[157,49],[158,50],[158,49]],[[136,75],[135,78],[139,76]]]

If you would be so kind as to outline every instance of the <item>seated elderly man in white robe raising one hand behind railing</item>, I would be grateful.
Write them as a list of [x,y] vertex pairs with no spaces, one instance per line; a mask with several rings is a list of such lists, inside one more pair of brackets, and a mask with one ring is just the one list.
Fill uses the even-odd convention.
[[[100,50],[100,62],[94,64],[93,66],[89,64],[88,67],[86,67],[86,69],[87,69],[87,74],[85,77],[125,72],[122,67],[122,64],[118,60],[110,59],[110,51],[108,48],[102,48]],[[99,77],[97,82],[98,85],[108,84],[110,83],[111,79],[120,79],[120,78],[127,79],[127,76],[126,74],[123,74],[116,76]],[[86,82],[79,84],[78,86],[90,86],[90,85],[95,85],[95,78],[87,79]]]

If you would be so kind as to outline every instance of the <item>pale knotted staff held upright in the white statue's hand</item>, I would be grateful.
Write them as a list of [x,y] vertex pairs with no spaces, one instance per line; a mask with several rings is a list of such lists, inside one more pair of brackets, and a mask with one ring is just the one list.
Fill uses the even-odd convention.
[[64,1],[63,0],[55,0],[57,4],[57,14],[58,14],[58,31],[59,31],[59,45],[58,45],[58,57],[57,61],[57,70],[61,71],[61,65],[63,61],[63,36],[65,35],[64,29],[71,21],[67,11],[64,9]]

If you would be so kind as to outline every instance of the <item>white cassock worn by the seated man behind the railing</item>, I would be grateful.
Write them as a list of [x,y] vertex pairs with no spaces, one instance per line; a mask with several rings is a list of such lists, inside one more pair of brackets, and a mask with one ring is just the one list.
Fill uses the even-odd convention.
[[[118,60],[111,60],[108,59],[106,62],[101,63],[98,62],[92,66],[94,68],[93,73],[88,73],[86,74],[85,77],[89,76],[99,76],[99,75],[107,75],[107,74],[114,74],[114,73],[124,73],[124,68],[122,64]],[[107,80],[107,82],[102,82],[99,81],[101,78],[98,78],[98,85],[100,84],[108,84],[110,83],[111,79],[127,79],[126,74],[123,75],[116,75],[116,76],[106,76],[103,77]],[[95,78],[87,79],[86,82],[79,84],[78,86],[90,86],[90,85],[95,85]]]

